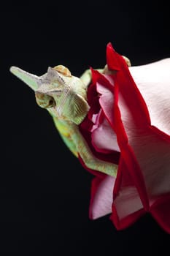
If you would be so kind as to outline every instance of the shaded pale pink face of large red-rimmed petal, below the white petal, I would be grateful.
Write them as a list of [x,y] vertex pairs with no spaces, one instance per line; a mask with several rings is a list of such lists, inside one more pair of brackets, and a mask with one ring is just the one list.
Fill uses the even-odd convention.
[[170,143],[151,127],[136,127],[131,111],[119,97],[121,118],[128,143],[142,170],[147,192],[151,197],[170,192]]

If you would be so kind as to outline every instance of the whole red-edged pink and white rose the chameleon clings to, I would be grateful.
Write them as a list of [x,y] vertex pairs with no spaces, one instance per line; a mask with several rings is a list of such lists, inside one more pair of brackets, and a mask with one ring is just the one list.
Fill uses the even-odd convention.
[[150,212],[170,233],[170,59],[128,68],[107,45],[113,75],[91,69],[80,131],[93,154],[118,164],[117,177],[90,170],[90,218],[128,227]]

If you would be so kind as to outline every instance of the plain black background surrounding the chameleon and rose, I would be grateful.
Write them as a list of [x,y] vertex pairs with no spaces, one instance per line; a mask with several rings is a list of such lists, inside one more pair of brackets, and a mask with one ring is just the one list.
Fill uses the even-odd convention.
[[1,255],[169,254],[169,235],[149,214],[121,231],[109,216],[88,219],[93,176],[63,144],[31,89],[9,73],[12,65],[42,75],[63,64],[79,76],[90,66],[104,67],[108,42],[133,65],[169,57],[167,4],[1,4]]

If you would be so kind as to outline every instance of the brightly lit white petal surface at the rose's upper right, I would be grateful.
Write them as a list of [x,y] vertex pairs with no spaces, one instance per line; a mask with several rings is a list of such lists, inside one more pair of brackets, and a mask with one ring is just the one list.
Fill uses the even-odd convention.
[[170,58],[129,70],[147,104],[151,124],[170,135]]

